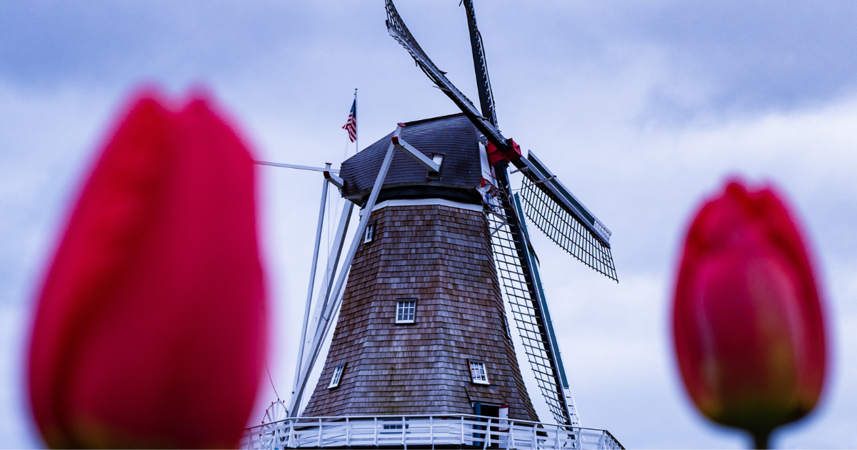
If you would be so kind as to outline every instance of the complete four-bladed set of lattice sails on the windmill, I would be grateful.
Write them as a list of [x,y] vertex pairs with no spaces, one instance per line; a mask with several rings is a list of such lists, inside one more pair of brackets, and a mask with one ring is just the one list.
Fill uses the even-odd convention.
[[[473,102],[464,93],[452,85],[446,78],[444,72],[437,68],[428,58],[422,47],[417,44],[411,32],[402,21],[399,12],[393,6],[392,0],[386,0],[387,9],[387,31],[399,44],[405,47],[417,66],[434,81],[446,96],[458,105],[470,122],[482,132],[482,135],[500,151],[501,154],[510,155],[512,164],[516,165],[523,173],[524,178],[531,184],[539,185],[531,189],[530,199],[536,199],[532,195],[536,190],[547,189],[542,192],[542,209],[529,208],[531,211],[542,213],[541,223],[537,223],[542,230],[548,230],[548,236],[560,243],[565,249],[571,249],[572,255],[584,261],[590,267],[596,268],[598,272],[615,279],[615,270],[612,256],[609,253],[609,231],[600,221],[589,213],[577,199],[571,195],[537,159],[530,161],[520,156],[520,151],[512,140],[506,139],[496,126],[494,114],[494,99],[490,94],[488,84],[488,70],[485,66],[482,39],[476,30],[476,18],[473,4],[468,1],[465,9],[470,24],[470,39],[473,44],[473,59],[476,66],[476,78],[480,83],[480,98],[482,99],[482,113],[480,113]],[[485,117],[485,115],[488,117]],[[511,188],[506,174],[506,162],[500,160],[494,167],[496,176],[500,183],[499,197],[494,201],[500,203],[494,207],[488,207],[491,211],[489,221],[492,223],[492,245],[494,246],[494,257],[496,258],[497,270],[500,281],[506,290],[506,299],[512,306],[512,315],[518,323],[521,337],[524,340],[527,357],[536,374],[536,381],[554,418],[558,423],[576,423],[577,414],[573,405],[568,404],[570,396],[566,398],[561,378],[563,369],[559,360],[559,351],[551,342],[549,331],[550,323],[546,320],[548,316],[547,303],[540,300],[533,279],[533,262],[529,259],[529,249],[523,226],[522,217],[512,206],[510,196]],[[528,205],[530,203],[528,202]],[[554,212],[550,215],[549,212]],[[564,213],[565,215],[560,215]],[[584,214],[585,213],[585,214]],[[536,214],[534,214],[536,215]],[[554,217],[555,216],[555,217]],[[567,217],[566,217],[567,216]],[[566,223],[558,223],[555,230],[548,226],[548,220],[566,219]],[[574,234],[576,233],[576,234]],[[597,245],[597,247],[596,247]],[[596,250],[600,250],[596,253]],[[589,253],[586,253],[589,251]],[[596,257],[590,257],[590,254]]]

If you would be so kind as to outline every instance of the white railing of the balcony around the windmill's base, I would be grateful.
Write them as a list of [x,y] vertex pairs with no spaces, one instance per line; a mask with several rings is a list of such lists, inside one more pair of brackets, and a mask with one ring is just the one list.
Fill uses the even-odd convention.
[[245,429],[241,448],[444,446],[624,448],[607,430],[461,416],[289,417]]

